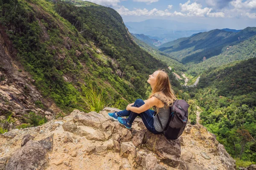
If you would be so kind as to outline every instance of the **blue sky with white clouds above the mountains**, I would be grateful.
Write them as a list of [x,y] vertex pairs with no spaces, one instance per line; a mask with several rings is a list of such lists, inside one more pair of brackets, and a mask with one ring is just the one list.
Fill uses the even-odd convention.
[[148,19],[203,23],[212,28],[256,26],[256,0],[87,0],[115,9],[124,22]]

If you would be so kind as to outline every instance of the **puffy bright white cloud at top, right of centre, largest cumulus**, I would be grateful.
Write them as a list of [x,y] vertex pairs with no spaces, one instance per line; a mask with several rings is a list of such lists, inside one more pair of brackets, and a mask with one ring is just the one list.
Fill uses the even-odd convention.
[[190,0],[186,3],[180,3],[180,8],[182,12],[185,12],[189,17],[224,17],[223,12],[211,12],[212,8],[202,8],[200,3],[194,2],[190,4]]

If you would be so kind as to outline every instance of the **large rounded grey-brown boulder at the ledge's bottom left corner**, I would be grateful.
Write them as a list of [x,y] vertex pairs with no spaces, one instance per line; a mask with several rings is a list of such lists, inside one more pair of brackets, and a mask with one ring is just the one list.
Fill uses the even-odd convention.
[[47,150],[39,141],[29,140],[6,164],[6,170],[43,170],[47,167]]

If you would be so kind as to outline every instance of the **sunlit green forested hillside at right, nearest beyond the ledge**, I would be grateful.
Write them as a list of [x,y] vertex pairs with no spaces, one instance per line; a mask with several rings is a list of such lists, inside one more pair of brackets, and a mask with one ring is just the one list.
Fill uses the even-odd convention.
[[201,124],[236,159],[256,162],[256,58],[209,70],[190,95],[203,109]]

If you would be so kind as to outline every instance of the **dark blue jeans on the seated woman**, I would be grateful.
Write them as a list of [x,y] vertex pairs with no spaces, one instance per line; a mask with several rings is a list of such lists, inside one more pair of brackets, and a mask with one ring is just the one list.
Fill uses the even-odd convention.
[[[140,106],[144,105],[145,102],[142,100],[142,99],[137,99],[135,102],[134,102],[134,105],[132,105],[133,107],[137,107],[139,108]],[[134,113],[132,111],[127,111],[126,109],[123,110],[123,111],[119,111],[117,112],[117,116],[128,116],[127,118],[127,122],[129,124],[131,124],[132,122],[134,122],[134,119],[137,117],[137,116],[140,116],[145,127],[152,133],[161,133],[161,132],[158,132],[155,128],[154,128],[154,119],[153,119],[153,115],[154,115],[154,112],[153,110],[146,110],[142,113]]]

